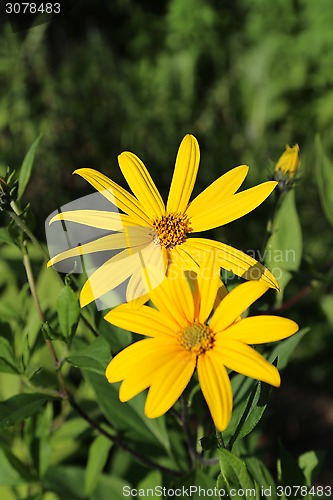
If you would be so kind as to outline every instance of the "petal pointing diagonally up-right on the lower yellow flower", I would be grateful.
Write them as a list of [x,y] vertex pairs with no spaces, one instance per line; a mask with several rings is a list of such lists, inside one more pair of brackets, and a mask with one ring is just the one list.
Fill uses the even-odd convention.
[[267,285],[260,281],[248,281],[236,286],[220,302],[210,321],[210,327],[214,332],[225,330],[267,290]]

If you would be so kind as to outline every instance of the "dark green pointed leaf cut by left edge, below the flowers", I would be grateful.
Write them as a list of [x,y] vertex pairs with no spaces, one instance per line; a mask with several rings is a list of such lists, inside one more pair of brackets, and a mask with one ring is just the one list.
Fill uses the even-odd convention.
[[30,417],[49,399],[40,394],[19,394],[0,402],[0,431]]

